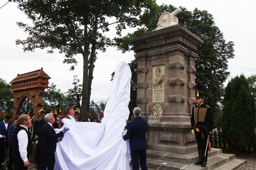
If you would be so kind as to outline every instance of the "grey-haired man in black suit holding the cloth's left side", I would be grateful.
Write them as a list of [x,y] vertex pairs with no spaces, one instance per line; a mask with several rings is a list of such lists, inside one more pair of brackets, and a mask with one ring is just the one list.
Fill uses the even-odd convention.
[[52,124],[54,123],[54,116],[52,113],[45,115],[45,123],[41,129],[41,145],[40,145],[40,162],[39,170],[54,169],[55,164],[55,151],[56,143],[60,142],[60,137],[64,136],[65,130],[60,131],[60,133],[55,133]]

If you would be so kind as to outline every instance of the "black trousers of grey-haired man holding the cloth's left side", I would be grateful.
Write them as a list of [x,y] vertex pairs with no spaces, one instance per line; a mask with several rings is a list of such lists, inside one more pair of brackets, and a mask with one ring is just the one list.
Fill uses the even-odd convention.
[[40,154],[40,162],[38,164],[39,170],[53,170],[55,164],[55,154]]

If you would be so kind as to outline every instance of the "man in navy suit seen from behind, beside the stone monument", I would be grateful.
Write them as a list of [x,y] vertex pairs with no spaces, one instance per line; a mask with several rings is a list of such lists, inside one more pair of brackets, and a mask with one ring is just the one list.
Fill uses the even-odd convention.
[[139,107],[134,108],[134,120],[128,123],[127,133],[122,137],[124,140],[130,140],[130,149],[132,157],[132,169],[139,170],[139,164],[141,169],[146,170],[146,130],[148,122],[141,118],[141,109]]

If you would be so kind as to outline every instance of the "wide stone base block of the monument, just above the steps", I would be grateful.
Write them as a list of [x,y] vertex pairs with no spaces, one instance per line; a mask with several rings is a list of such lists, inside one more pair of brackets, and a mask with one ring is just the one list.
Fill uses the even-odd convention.
[[191,125],[184,122],[148,121],[148,149],[188,154],[197,151]]

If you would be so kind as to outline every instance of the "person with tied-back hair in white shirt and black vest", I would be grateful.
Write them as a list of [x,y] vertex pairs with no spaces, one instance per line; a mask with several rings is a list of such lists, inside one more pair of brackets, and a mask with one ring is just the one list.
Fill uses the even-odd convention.
[[32,154],[32,140],[29,128],[31,118],[28,114],[21,114],[14,122],[14,137],[12,153],[14,156],[14,170],[28,169],[29,155]]

